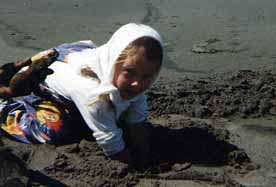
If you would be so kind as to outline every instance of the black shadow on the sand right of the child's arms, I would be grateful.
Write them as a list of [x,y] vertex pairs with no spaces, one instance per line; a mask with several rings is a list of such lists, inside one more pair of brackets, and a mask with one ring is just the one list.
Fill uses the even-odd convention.
[[220,166],[250,162],[247,154],[229,143],[229,133],[206,124],[170,129],[149,125],[154,164],[185,163]]

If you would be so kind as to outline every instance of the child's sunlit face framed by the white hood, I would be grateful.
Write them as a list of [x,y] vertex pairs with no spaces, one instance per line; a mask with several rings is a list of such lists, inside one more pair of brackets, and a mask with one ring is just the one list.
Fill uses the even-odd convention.
[[123,99],[131,99],[150,87],[159,68],[159,63],[148,61],[144,47],[139,47],[135,55],[115,65],[113,84]]

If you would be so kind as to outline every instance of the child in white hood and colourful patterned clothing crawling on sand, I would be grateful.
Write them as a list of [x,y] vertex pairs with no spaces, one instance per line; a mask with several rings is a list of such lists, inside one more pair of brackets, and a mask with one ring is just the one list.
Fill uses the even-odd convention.
[[[7,116],[2,129],[26,143],[51,143],[60,138],[66,123],[74,120],[70,116],[76,116],[73,113],[77,111],[107,156],[131,164],[133,155],[122,131],[127,129],[138,165],[145,165],[149,145],[144,91],[154,82],[162,65],[160,35],[149,26],[130,23],[100,47],[85,41],[64,44],[56,50],[58,61],[50,66],[54,73],[40,85],[42,95],[48,93],[44,95],[51,95],[50,100],[27,96],[19,104],[7,105],[2,112]],[[65,104],[60,107],[57,103]],[[32,110],[28,110],[30,105]],[[24,116],[18,115],[22,112],[31,116],[31,122],[39,123],[29,127],[29,118],[17,119]],[[15,119],[19,125],[15,125]],[[20,125],[22,120],[24,125]],[[122,128],[117,126],[119,122]],[[16,133],[11,126],[17,127]]]

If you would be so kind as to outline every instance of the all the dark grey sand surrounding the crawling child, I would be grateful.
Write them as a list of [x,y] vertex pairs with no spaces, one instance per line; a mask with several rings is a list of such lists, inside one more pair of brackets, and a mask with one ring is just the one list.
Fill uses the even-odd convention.
[[276,2],[0,1],[0,62],[64,42],[104,43],[142,22],[166,59],[148,92],[152,162],[136,171],[95,142],[23,145],[2,138],[0,186],[276,186]]

